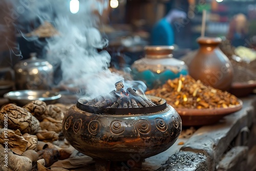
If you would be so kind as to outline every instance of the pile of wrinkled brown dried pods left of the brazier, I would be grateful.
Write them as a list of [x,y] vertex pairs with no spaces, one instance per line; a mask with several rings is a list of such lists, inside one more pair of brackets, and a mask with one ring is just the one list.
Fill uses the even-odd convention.
[[[74,157],[77,168],[78,151],[62,134],[64,113],[72,105],[47,105],[40,100],[23,107],[13,103],[4,105],[0,109],[0,170],[67,170],[64,168],[72,165],[70,160]],[[8,162],[4,162],[5,156]]]

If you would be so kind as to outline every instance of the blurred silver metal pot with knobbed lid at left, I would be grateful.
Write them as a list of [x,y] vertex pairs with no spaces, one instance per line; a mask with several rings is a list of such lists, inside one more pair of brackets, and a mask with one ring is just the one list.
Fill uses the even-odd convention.
[[38,59],[36,53],[14,66],[17,90],[50,90],[53,84],[53,66]]

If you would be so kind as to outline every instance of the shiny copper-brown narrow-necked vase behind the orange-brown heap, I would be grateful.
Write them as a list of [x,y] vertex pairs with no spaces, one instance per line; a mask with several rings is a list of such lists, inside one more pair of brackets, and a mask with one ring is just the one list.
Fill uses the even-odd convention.
[[199,37],[199,50],[188,64],[191,77],[209,86],[227,91],[233,79],[233,67],[227,56],[218,47],[219,37]]

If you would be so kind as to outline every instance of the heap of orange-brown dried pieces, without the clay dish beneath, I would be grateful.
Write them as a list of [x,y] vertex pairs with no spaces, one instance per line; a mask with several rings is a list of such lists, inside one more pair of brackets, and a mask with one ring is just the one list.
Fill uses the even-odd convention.
[[236,96],[210,86],[191,76],[180,76],[167,80],[163,86],[145,92],[146,95],[161,97],[174,108],[215,109],[239,104]]

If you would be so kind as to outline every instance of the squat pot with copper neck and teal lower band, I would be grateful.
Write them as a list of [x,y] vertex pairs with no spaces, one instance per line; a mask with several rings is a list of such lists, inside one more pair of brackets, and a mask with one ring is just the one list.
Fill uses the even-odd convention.
[[185,62],[173,58],[173,46],[146,46],[145,57],[136,60],[131,66],[134,80],[142,80],[147,88],[153,89],[168,79],[187,75]]

